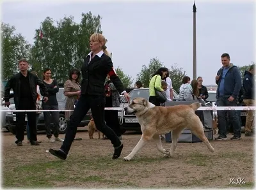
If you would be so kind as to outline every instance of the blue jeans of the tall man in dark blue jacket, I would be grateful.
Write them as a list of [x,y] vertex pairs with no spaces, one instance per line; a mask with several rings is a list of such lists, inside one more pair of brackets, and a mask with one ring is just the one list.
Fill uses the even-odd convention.
[[[228,98],[229,97],[226,97],[226,96],[218,97],[217,106],[237,106],[237,99],[234,99],[234,101],[228,101]],[[237,115],[236,110],[234,110],[234,111],[225,111],[225,110],[217,111],[220,135],[223,137],[227,137],[227,122],[226,122],[225,112],[228,112],[230,123],[233,126],[234,135],[241,136],[241,122],[239,121],[239,117]]]

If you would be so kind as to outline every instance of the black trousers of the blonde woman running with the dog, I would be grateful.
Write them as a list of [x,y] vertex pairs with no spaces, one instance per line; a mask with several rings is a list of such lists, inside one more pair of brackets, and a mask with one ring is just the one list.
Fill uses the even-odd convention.
[[77,126],[90,109],[92,111],[92,117],[97,130],[106,135],[114,147],[120,147],[122,142],[119,140],[118,136],[116,136],[115,132],[106,125],[104,119],[104,108],[104,96],[89,96],[82,94],[76,108],[74,109],[74,112],[70,116],[70,121],[67,124],[65,139],[60,149],[68,154],[72,142],[76,136]]

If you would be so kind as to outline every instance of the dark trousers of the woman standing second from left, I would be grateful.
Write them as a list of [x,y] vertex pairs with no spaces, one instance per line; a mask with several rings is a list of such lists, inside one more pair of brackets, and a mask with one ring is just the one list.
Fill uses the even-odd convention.
[[[58,110],[58,105],[42,105],[44,110]],[[51,133],[51,122],[53,123],[52,132],[55,137],[59,136],[59,119],[60,113],[59,112],[44,112],[44,123],[45,123],[45,132],[47,138],[52,137]]]

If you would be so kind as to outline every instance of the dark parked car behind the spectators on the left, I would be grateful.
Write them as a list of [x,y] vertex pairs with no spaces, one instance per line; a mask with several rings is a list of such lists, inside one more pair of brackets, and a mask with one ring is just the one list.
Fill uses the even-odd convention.
[[[63,94],[64,88],[60,87],[59,88],[59,92],[56,94],[57,97],[57,101],[58,101],[58,105],[59,105],[59,110],[65,110],[65,103],[67,100],[67,97]],[[42,97],[41,97],[42,99]],[[9,129],[9,131],[13,134],[16,133],[16,114],[15,112],[12,112],[15,110],[15,105],[13,102],[13,98],[10,99],[10,103],[11,105],[9,106],[10,112],[6,112],[6,116],[5,116],[5,122],[6,122],[6,128]],[[4,102],[3,102],[4,104]],[[79,124],[79,126],[83,127],[86,126],[89,122],[90,122],[90,114],[91,112],[89,111],[83,121],[81,121],[81,123]],[[28,118],[25,117],[25,121],[27,123]],[[24,126],[24,128],[26,129],[26,125]],[[38,125],[37,125],[37,130],[38,131],[42,131],[45,130],[45,124],[44,124],[44,113],[40,113],[39,115],[39,120],[38,120]],[[59,119],[59,133],[66,133],[67,130],[67,121],[65,118],[65,112],[60,112],[60,119]]]

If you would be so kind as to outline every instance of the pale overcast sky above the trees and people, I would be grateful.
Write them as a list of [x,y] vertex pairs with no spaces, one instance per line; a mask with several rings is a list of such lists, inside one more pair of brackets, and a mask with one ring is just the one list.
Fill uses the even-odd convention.
[[[153,3],[99,1],[5,1],[2,21],[15,26],[29,43],[35,29],[49,16],[65,15],[81,21],[81,13],[102,17],[106,46],[113,52],[115,68],[122,68],[136,82],[143,64],[157,57],[170,68],[175,62],[193,78],[193,0]],[[214,84],[221,67],[220,55],[230,54],[237,66],[255,59],[255,3],[253,1],[196,1],[197,76]]]

